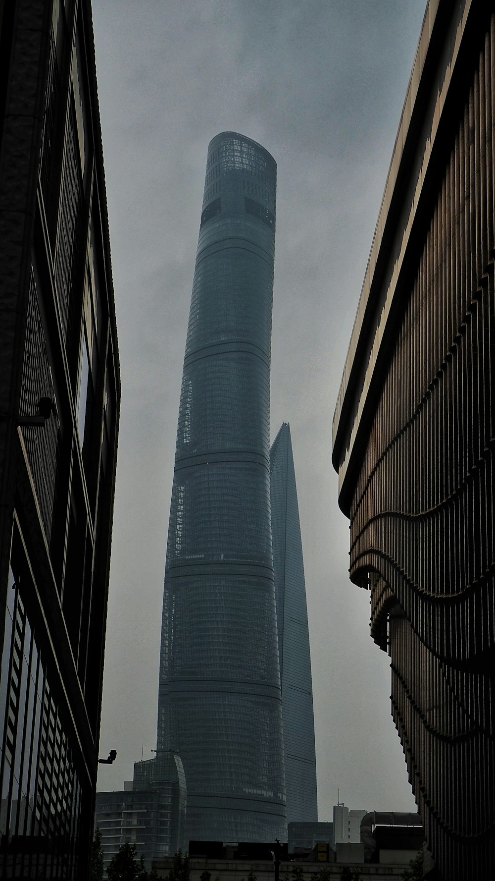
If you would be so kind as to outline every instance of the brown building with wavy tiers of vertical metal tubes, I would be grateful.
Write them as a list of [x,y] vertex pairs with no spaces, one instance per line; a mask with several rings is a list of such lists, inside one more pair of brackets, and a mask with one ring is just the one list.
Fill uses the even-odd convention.
[[443,881],[495,877],[495,14],[430,2],[334,422],[351,579]]

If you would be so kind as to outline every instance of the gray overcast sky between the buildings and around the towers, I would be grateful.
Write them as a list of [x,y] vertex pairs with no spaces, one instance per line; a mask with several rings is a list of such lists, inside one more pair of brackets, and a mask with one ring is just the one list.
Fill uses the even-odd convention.
[[206,150],[277,160],[271,437],[291,423],[320,819],[415,810],[388,657],[348,580],[331,421],[425,0],[93,0],[122,416],[99,788],[156,745],[175,431]]

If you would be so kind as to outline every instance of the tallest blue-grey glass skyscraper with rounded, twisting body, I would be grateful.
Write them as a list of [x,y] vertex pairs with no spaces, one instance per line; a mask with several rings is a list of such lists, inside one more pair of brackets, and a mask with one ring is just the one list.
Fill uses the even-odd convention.
[[158,749],[178,749],[190,839],[286,833],[270,533],[277,166],[209,146],[166,553]]

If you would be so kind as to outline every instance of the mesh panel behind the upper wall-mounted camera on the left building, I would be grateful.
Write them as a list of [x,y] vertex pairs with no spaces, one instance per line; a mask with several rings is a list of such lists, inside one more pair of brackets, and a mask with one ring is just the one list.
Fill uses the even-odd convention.
[[[21,415],[34,416],[41,397],[50,397],[52,400],[55,400],[52,375],[48,365],[47,346],[41,325],[36,285],[32,274],[27,306],[26,348],[22,366],[19,408]],[[25,426],[22,429],[22,433],[45,532],[49,541],[55,504],[60,448],[58,420],[55,416],[51,416],[47,419],[44,428],[40,426]]]

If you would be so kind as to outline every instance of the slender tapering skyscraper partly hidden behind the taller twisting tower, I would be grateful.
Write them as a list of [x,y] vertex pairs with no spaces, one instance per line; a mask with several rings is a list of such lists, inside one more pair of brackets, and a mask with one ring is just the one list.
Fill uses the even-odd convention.
[[270,449],[271,540],[282,684],[287,822],[318,819],[306,584],[291,429]]

